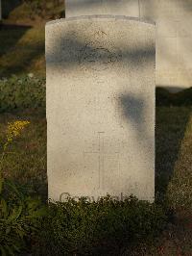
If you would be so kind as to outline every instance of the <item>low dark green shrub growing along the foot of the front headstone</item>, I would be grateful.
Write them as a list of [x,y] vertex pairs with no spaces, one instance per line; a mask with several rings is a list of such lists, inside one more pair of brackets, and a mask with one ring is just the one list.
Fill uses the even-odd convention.
[[124,245],[156,237],[167,219],[161,206],[132,196],[50,203],[33,255],[119,255]]

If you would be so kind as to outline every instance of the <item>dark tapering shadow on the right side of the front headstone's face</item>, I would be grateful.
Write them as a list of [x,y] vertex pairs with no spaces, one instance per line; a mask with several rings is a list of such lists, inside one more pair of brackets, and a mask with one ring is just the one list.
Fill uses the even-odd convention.
[[[138,146],[138,159],[144,154],[145,161],[153,159],[155,154],[155,111],[153,110],[155,95],[153,91],[152,88],[148,97],[146,96],[146,93],[148,93],[146,90],[143,91],[143,95],[142,93],[140,95],[139,93],[124,93],[119,96],[122,117],[134,130],[135,145]],[[151,105],[148,104],[149,101]]]

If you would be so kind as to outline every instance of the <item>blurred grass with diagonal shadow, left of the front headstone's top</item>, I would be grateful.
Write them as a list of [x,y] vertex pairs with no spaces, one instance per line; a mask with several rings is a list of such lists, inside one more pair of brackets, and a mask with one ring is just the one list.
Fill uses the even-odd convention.
[[0,29],[0,77],[45,76],[44,26],[4,24]]

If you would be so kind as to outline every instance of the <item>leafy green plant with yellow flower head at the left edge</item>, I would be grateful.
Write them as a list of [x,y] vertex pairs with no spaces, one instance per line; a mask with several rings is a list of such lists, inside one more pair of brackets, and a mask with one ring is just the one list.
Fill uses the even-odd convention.
[[40,200],[19,191],[12,181],[4,179],[3,163],[12,141],[29,121],[10,122],[0,159],[0,252],[2,256],[15,255],[25,247],[27,238],[36,232],[44,215]]

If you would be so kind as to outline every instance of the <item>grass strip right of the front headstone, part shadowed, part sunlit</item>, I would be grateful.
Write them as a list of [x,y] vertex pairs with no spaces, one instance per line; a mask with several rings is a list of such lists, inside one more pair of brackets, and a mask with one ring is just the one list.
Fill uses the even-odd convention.
[[156,108],[156,191],[192,209],[192,108]]

